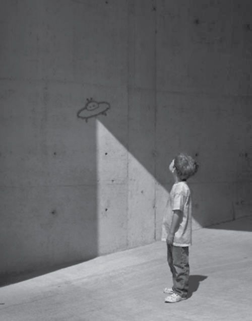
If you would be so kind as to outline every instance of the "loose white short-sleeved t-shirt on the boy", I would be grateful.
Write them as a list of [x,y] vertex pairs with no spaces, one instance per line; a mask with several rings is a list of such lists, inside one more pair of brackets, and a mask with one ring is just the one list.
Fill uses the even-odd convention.
[[162,241],[166,241],[170,231],[174,210],[180,210],[183,215],[175,232],[173,245],[189,246],[192,244],[192,200],[190,188],[184,181],[175,183],[171,188],[163,218]]

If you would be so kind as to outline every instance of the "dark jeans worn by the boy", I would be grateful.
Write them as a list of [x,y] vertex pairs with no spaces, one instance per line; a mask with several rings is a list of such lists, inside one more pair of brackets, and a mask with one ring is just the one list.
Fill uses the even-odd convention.
[[189,288],[189,249],[167,244],[167,261],[172,273],[173,291],[187,297]]

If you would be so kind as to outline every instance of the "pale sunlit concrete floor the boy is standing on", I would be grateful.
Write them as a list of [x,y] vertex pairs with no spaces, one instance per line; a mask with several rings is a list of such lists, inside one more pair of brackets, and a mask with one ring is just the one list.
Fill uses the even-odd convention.
[[194,231],[190,297],[164,303],[166,244],[100,256],[0,288],[1,321],[252,320],[252,217]]

